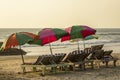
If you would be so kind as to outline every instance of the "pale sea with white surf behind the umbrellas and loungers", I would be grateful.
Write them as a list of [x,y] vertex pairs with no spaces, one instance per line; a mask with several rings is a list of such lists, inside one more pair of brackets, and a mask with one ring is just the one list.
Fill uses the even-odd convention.
[[[12,33],[15,32],[31,32],[37,34],[41,28],[1,28],[0,29],[0,42],[4,42],[5,39],[10,36]],[[85,45],[86,47],[90,47],[92,45],[99,45],[104,44],[105,49],[113,49],[115,53],[120,53],[120,28],[96,28],[96,36],[98,36],[98,39],[91,39],[86,40]],[[65,41],[61,42],[60,40],[51,43],[51,46],[53,48],[53,52],[59,51],[68,51],[77,49],[78,43]],[[81,49],[83,49],[83,40],[79,41],[79,46]],[[49,45],[45,46],[39,46],[39,45],[29,45],[25,44],[22,45],[22,49],[24,49],[27,52],[27,55],[38,55],[38,54],[44,54],[44,53],[50,53],[49,52]],[[55,49],[55,50],[54,50]],[[62,50],[64,49],[64,50]]]

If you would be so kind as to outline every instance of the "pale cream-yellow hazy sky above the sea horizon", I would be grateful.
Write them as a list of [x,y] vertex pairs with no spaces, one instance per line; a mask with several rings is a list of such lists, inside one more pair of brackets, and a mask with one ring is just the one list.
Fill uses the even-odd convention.
[[0,0],[0,28],[120,27],[120,0]]

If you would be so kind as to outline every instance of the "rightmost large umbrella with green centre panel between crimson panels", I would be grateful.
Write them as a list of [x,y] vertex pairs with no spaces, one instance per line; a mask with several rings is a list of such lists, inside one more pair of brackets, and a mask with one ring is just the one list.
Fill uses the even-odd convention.
[[[77,25],[65,29],[68,35],[62,37],[61,42],[73,39],[84,39],[87,36],[94,35],[96,30],[85,25]],[[79,43],[78,43],[79,50]]]

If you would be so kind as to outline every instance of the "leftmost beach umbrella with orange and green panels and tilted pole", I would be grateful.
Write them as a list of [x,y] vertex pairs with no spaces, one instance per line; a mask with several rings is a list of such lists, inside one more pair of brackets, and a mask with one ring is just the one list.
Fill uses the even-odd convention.
[[[6,50],[15,46],[19,46],[21,49],[21,45],[24,45],[25,43],[35,39],[38,39],[38,36],[33,33],[29,33],[29,32],[13,33],[3,42],[1,46],[1,50]],[[22,61],[24,63],[23,55],[22,55]]]

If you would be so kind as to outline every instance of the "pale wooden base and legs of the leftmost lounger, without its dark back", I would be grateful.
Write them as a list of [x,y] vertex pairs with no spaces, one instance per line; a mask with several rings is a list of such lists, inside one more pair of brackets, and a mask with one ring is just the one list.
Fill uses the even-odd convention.
[[[47,68],[52,68],[50,71],[51,73],[67,72],[67,71],[69,71],[68,67],[70,65],[73,65],[73,64],[71,64],[71,63],[50,64],[50,65],[27,65],[27,64],[23,64],[23,65],[21,65],[21,67],[23,69],[23,73],[26,73],[26,67],[33,68],[33,71],[36,71],[36,69],[39,68],[41,71],[40,74],[42,76],[44,76],[45,74],[49,74],[47,72]],[[64,67],[64,71],[60,70],[60,68],[63,68],[63,67]],[[57,68],[59,68],[59,70],[57,70]]]

